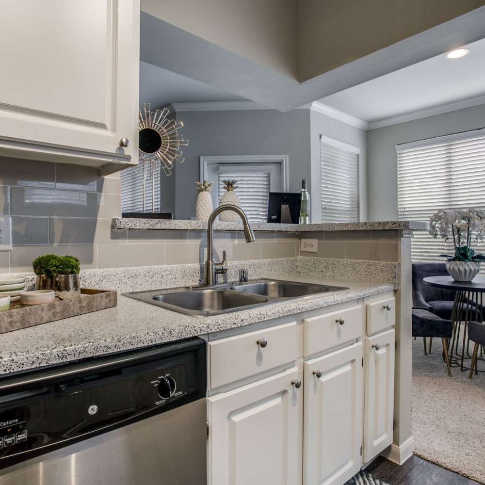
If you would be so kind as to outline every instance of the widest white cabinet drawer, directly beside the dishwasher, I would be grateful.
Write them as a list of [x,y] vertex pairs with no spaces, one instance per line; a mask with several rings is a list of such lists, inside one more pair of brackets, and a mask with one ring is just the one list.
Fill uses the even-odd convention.
[[[258,340],[266,339],[266,346]],[[273,369],[302,355],[296,322],[209,342],[210,387],[217,388]]]

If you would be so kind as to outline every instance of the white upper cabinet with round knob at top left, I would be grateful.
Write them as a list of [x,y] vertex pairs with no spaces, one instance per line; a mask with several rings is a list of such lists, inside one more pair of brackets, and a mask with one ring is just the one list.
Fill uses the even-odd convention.
[[139,19],[139,0],[4,2],[0,155],[137,163]]

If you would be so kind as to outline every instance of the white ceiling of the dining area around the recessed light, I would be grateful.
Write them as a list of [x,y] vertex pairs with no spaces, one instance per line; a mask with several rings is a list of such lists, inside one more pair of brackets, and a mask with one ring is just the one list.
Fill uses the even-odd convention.
[[319,102],[367,122],[422,111],[485,95],[485,39],[470,53],[444,54],[351,87]]

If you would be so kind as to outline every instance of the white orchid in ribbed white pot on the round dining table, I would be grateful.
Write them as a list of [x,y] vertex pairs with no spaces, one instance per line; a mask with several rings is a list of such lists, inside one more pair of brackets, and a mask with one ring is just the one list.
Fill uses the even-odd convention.
[[472,240],[481,242],[485,233],[485,211],[438,210],[429,220],[429,233],[445,241],[453,238],[454,255],[440,254],[446,261],[446,270],[455,281],[471,281],[480,272],[485,255],[475,253]]

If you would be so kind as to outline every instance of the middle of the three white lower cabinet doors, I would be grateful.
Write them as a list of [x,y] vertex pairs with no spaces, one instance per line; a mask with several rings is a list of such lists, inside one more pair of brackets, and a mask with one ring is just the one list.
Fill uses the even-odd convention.
[[308,360],[304,371],[304,483],[344,484],[362,464],[362,343]]

